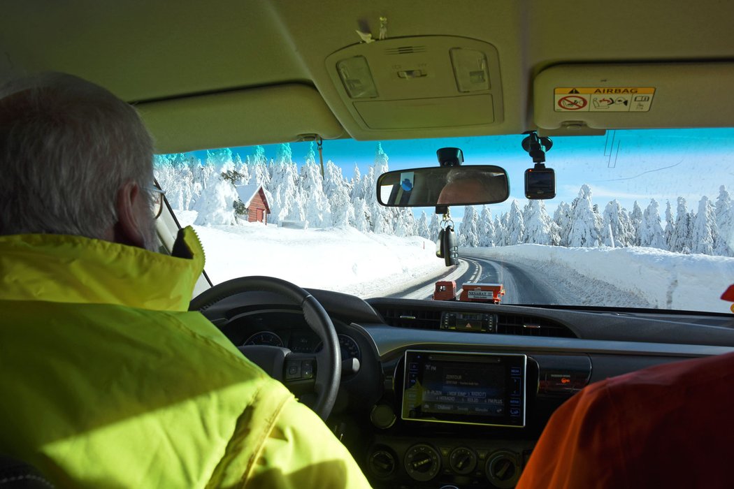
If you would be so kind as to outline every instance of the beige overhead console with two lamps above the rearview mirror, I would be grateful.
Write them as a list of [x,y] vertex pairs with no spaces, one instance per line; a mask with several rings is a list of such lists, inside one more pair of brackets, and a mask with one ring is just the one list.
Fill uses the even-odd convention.
[[446,136],[457,126],[482,134],[504,117],[497,50],[482,41],[390,38],[336,51],[326,66],[355,139]]

